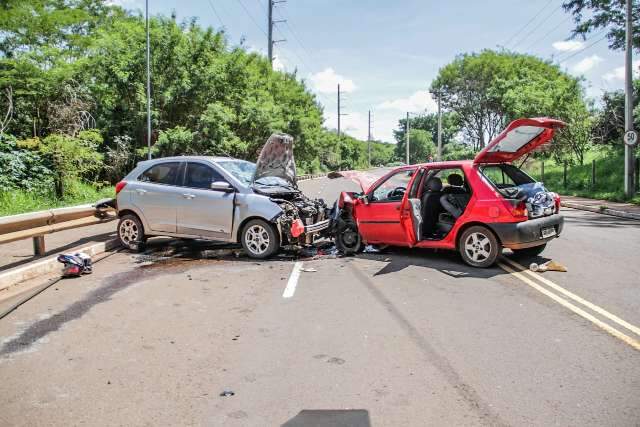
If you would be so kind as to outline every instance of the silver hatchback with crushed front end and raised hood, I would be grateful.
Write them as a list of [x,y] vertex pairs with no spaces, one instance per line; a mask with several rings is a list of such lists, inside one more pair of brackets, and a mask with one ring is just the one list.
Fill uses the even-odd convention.
[[118,238],[132,250],[149,236],[239,242],[253,258],[304,245],[329,227],[329,209],[297,186],[293,139],[274,134],[257,163],[166,157],[138,163],[116,185]]

